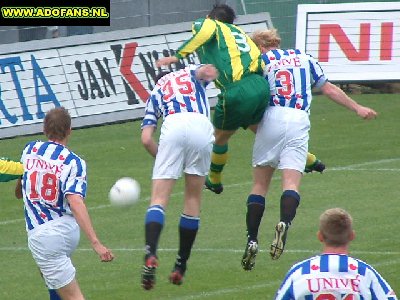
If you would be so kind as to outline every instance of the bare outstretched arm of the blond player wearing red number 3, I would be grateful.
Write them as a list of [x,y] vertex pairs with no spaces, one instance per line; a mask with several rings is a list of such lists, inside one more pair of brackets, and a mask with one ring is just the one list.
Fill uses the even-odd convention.
[[330,82],[325,83],[321,87],[321,91],[325,96],[329,97],[329,99],[336,102],[337,104],[343,105],[349,110],[354,111],[358,116],[363,119],[371,120],[376,118],[377,116],[375,110],[358,104],[356,101],[347,96],[341,88]]

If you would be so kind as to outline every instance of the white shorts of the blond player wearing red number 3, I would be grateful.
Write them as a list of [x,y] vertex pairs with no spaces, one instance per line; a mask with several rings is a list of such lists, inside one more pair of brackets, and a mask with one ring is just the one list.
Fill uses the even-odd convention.
[[268,107],[257,129],[253,166],[304,172],[309,131],[307,112],[290,107]]

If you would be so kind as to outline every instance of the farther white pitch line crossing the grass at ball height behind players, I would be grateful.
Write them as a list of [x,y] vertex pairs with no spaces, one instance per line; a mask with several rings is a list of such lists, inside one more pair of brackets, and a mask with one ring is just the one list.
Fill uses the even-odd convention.
[[[384,163],[391,163],[395,161],[399,161],[400,158],[390,158],[390,159],[381,159],[381,160],[375,160],[375,161],[367,161],[361,164],[353,164],[353,165],[348,165],[346,167],[332,167],[328,168],[326,171],[371,171],[370,169],[359,169],[359,167],[365,167],[369,165],[377,165],[377,164],[384,164]],[[358,169],[357,169],[358,168]],[[394,172],[399,172],[400,169],[386,169],[386,168],[379,168],[379,169],[373,169],[373,171],[394,171]],[[235,186],[243,186],[243,185],[249,185],[251,182],[241,182],[241,183],[234,183],[234,184],[229,184],[225,185],[225,187],[235,187]],[[174,196],[180,196],[183,195],[183,192],[177,192],[173,193],[171,197]],[[149,199],[144,199],[143,201],[148,201]],[[103,208],[109,208],[111,205],[110,204],[102,204],[94,207],[89,207],[89,210],[96,210],[96,209],[103,209]],[[14,224],[18,222],[22,222],[25,219],[13,219],[13,220],[4,220],[0,221],[0,226],[1,225],[9,225],[9,224]]]

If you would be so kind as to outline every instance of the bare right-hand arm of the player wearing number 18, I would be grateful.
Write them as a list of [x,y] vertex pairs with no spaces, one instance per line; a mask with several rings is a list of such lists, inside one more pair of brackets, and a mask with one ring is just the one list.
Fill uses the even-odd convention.
[[99,255],[101,261],[112,261],[114,259],[114,254],[97,238],[86,205],[83,202],[83,198],[77,194],[68,194],[66,195],[66,198],[71,207],[72,213],[74,214],[76,222],[85,233],[87,239],[92,245],[93,250]]

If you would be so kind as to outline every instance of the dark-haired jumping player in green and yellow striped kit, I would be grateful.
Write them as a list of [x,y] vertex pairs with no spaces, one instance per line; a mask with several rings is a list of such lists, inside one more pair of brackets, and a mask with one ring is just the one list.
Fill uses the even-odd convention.
[[215,106],[215,143],[206,187],[216,194],[223,191],[221,172],[227,161],[229,138],[240,127],[256,132],[269,100],[269,84],[263,75],[264,62],[257,45],[233,24],[235,11],[228,5],[215,5],[206,18],[194,21],[193,36],[157,66],[177,63],[197,52],[200,62],[213,64],[219,71],[215,80],[221,90]]

